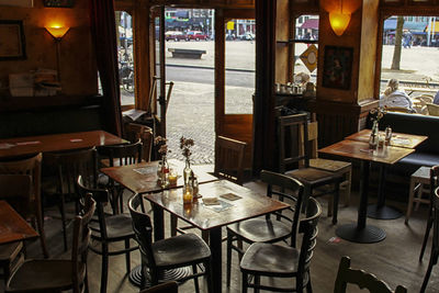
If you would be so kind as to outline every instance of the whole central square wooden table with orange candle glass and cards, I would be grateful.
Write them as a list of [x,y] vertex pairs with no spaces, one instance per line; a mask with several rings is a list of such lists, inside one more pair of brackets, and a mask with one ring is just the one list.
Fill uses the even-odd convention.
[[[241,199],[228,201],[219,198],[219,195],[226,193],[234,193],[241,196]],[[181,189],[146,194],[145,199],[153,204],[154,235],[156,241],[165,237],[164,211],[178,216],[201,230],[209,232],[212,251],[213,292],[221,293],[223,292],[222,227],[247,218],[284,210],[289,205],[226,180],[201,184],[200,194],[203,198],[218,198],[223,206],[219,210],[224,210],[215,211],[215,207],[204,205],[202,199],[198,203],[183,205]]]

